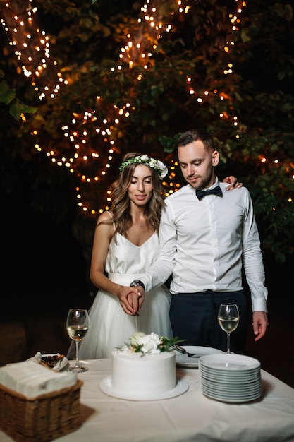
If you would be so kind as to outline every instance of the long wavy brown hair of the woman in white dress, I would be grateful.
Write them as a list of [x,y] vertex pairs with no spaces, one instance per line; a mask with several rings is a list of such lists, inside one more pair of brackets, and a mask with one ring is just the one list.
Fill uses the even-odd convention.
[[[123,157],[123,162],[130,158],[144,155],[142,153],[127,153]],[[130,198],[128,198],[128,186],[133,179],[135,167],[138,164],[143,164],[147,167],[149,165],[145,163],[135,163],[126,166],[118,179],[114,181],[111,186],[111,201],[114,223],[116,225],[116,232],[127,236],[128,229],[132,225],[132,217],[130,216]],[[164,207],[164,186],[162,186],[159,176],[156,170],[149,167],[152,176],[152,197],[146,204],[145,215],[147,216],[147,225],[154,229],[155,232],[159,231],[159,222],[161,218],[161,210]]]

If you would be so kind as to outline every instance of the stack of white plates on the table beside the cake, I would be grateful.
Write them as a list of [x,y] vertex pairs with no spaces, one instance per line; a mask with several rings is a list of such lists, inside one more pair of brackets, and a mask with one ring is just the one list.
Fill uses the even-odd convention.
[[209,354],[199,359],[200,387],[209,398],[249,402],[262,395],[260,362],[242,354]]

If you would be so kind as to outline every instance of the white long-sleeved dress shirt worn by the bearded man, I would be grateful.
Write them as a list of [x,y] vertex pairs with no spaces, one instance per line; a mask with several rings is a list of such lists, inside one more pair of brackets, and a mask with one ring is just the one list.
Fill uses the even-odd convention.
[[[267,287],[252,200],[245,187],[198,200],[190,184],[166,198],[159,229],[159,259],[140,280],[146,291],[171,273],[171,294],[243,289],[242,266],[252,311],[267,311]],[[212,186],[210,189],[212,189]]]

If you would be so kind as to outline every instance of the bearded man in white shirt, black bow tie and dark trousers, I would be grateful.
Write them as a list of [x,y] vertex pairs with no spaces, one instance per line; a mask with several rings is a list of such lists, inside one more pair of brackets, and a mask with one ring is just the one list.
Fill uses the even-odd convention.
[[226,191],[214,168],[219,153],[206,131],[191,130],[178,140],[178,162],[187,185],[166,198],[161,216],[160,255],[140,281],[131,282],[142,295],[172,275],[170,318],[173,335],[185,345],[226,350],[226,333],[217,322],[223,302],[233,302],[240,323],[231,350],[245,352],[247,332],[244,270],[251,292],[255,341],[266,333],[267,288],[259,233],[250,194],[241,187]]

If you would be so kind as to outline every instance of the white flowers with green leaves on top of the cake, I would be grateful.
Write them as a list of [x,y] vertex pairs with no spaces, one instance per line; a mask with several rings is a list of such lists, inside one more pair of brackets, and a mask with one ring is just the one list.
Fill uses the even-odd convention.
[[118,350],[131,350],[133,353],[145,354],[159,354],[161,352],[168,352],[171,346],[178,342],[178,338],[168,339],[164,336],[159,338],[156,333],[146,335],[142,332],[137,332],[129,338],[130,342],[125,343],[123,347]]

